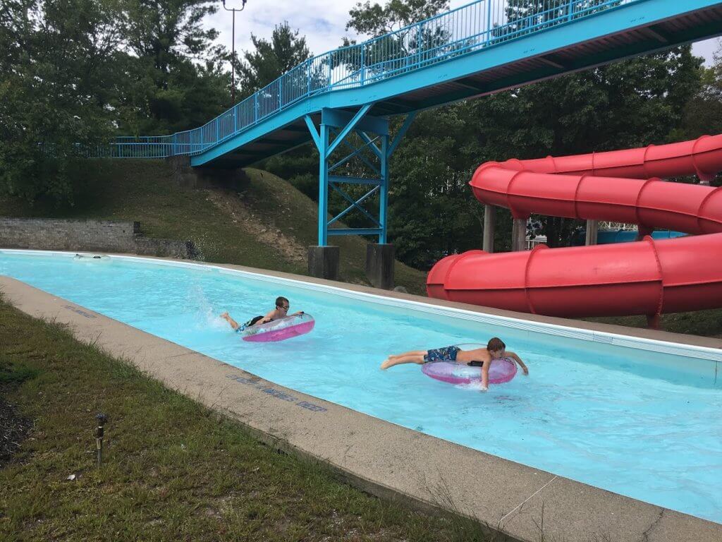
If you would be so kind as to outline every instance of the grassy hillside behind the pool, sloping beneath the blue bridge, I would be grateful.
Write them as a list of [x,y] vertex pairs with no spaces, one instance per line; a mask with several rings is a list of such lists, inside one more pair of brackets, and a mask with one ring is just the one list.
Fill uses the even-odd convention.
[[[206,262],[307,274],[316,244],[316,204],[282,178],[253,168],[228,173],[224,187],[194,189],[162,160],[90,160],[77,172],[72,207],[0,201],[0,215],[138,220],[148,237],[191,240]],[[341,247],[341,278],[367,284],[366,241],[332,238]],[[425,292],[424,272],[396,264],[396,284]]]

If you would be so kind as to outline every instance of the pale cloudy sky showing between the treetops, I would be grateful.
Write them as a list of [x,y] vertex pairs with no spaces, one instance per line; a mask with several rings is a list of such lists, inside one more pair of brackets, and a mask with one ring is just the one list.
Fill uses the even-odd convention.
[[[381,0],[379,3],[385,4],[386,1]],[[270,38],[274,25],[288,21],[292,28],[297,28],[301,35],[305,35],[314,54],[330,51],[341,45],[344,35],[355,37],[346,30],[346,23],[349,20],[349,9],[356,4],[357,0],[248,0],[243,12],[235,14],[236,50],[252,48],[252,33]],[[452,8],[464,4],[469,4],[469,0],[451,0]],[[226,0],[226,5],[240,7],[241,0]],[[230,51],[231,13],[220,7],[216,14],[208,17],[206,25],[219,31],[218,43]],[[693,50],[697,55],[705,57],[709,65],[719,45],[718,39],[707,40],[695,43]]]

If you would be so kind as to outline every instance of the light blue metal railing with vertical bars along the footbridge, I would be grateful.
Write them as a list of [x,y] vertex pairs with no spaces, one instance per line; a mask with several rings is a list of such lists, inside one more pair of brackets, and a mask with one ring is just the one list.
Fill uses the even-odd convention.
[[644,0],[479,0],[314,56],[200,128],[167,136],[118,137],[97,155],[199,154],[310,96],[371,85],[637,1]]

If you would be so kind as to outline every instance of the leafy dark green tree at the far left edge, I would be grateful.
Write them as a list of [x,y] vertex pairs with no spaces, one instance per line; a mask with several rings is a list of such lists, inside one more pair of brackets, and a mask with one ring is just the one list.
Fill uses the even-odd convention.
[[74,158],[108,137],[112,4],[12,0],[0,10],[0,189],[71,201]]

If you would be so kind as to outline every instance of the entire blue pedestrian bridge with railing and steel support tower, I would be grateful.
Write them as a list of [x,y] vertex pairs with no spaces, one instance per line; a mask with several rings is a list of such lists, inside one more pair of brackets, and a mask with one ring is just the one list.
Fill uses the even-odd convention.
[[[100,155],[188,155],[194,167],[238,168],[314,142],[320,153],[318,244],[346,234],[378,235],[386,243],[388,158],[417,111],[721,34],[722,1],[479,0],[314,56],[204,126],[118,137]],[[391,116],[405,116],[393,138]],[[344,147],[347,154],[331,160]],[[373,176],[334,175],[354,157]],[[367,191],[358,199],[339,184]],[[330,221],[329,189],[349,202]],[[370,197],[378,199],[376,215],[362,206]],[[363,212],[370,227],[330,228],[350,210]]]

